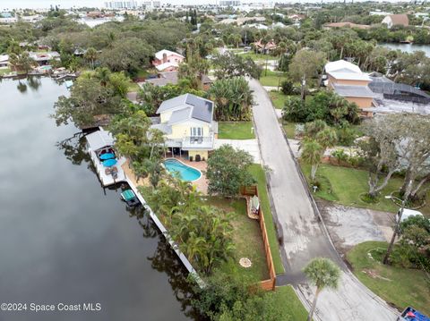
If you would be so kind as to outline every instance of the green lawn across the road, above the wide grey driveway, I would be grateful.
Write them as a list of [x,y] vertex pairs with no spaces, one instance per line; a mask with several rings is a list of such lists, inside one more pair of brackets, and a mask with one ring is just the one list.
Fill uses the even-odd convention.
[[[301,166],[308,179],[310,165],[302,164]],[[388,185],[382,190],[382,197],[379,198],[379,203],[369,204],[359,197],[360,194],[368,191],[367,171],[323,164],[319,166],[316,176],[322,184],[321,189],[316,192],[316,196],[319,198],[331,200],[346,206],[373,208],[392,213],[397,212],[399,209],[391,199],[385,199],[383,196],[389,195],[391,191],[400,189],[403,183],[403,179],[400,177],[391,178]],[[428,195],[426,203],[426,207],[420,208],[419,211],[430,215],[430,198]]]

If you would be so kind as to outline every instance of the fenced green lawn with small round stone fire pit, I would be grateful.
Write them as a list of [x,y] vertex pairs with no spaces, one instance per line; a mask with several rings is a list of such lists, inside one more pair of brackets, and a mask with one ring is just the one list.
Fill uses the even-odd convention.
[[[208,202],[227,212],[233,212],[232,224],[235,228],[235,252],[233,258],[220,266],[228,275],[244,277],[250,282],[260,282],[270,278],[262,245],[262,232],[257,220],[246,215],[245,199],[209,198]],[[245,268],[239,265],[240,258],[249,258],[253,265]]]

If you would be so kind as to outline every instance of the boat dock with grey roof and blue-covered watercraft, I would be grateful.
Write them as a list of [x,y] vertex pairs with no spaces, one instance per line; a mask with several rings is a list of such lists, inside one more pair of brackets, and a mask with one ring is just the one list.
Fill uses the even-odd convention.
[[121,166],[125,163],[125,157],[116,155],[112,134],[99,127],[99,131],[86,135],[86,139],[88,152],[103,187],[126,182]]

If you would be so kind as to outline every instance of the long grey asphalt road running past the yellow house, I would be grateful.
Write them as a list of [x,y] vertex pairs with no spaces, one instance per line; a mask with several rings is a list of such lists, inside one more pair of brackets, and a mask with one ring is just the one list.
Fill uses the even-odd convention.
[[315,319],[395,320],[395,311],[359,283],[341,261],[324,233],[323,225],[316,218],[267,92],[257,80],[249,80],[249,84],[254,90],[254,123],[262,164],[271,168],[269,186],[288,282],[295,286],[305,304],[310,304],[314,289],[308,285],[302,269],[312,258],[331,258],[342,269],[340,288],[337,291],[325,290],[320,294]]

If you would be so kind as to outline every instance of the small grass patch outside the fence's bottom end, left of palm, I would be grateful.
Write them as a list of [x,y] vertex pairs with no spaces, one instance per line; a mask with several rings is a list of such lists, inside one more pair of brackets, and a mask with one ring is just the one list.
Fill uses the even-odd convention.
[[273,304],[286,310],[291,320],[305,321],[307,317],[305,307],[298,300],[296,292],[290,285],[276,288],[273,292]]

